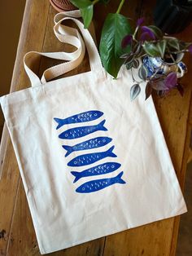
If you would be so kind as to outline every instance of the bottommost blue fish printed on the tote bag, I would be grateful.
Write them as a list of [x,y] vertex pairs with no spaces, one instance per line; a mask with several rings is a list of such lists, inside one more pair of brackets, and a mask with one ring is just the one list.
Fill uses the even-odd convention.
[[88,181],[87,183],[82,184],[79,188],[76,188],[76,192],[78,193],[91,193],[101,190],[103,188],[107,188],[113,184],[126,183],[123,179],[121,179],[123,171],[120,172],[116,177],[110,179],[96,179],[92,181]]

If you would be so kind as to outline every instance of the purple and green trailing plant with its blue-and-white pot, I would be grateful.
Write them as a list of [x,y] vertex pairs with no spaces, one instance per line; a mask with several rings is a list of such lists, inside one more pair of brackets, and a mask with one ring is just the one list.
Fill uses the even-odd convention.
[[121,44],[122,47],[131,47],[128,53],[121,56],[126,68],[131,71],[132,77],[133,68],[138,68],[140,78],[138,81],[133,77],[135,84],[131,87],[131,99],[135,99],[140,93],[142,82],[146,82],[146,99],[152,90],[164,95],[172,88],[177,88],[183,95],[183,87],[178,78],[187,71],[181,60],[185,52],[192,53],[191,42],[165,36],[155,25],[143,26],[143,21],[144,19],[137,20],[136,29],[125,36]]

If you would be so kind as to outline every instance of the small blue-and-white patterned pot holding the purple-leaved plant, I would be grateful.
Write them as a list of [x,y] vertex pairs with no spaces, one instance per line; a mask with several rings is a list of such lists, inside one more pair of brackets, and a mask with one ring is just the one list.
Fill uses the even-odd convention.
[[186,65],[181,61],[184,54],[177,55],[176,64],[165,63],[159,57],[145,56],[142,60],[142,64],[146,67],[147,77],[153,76],[155,73],[159,75],[167,75],[170,72],[176,72],[177,77],[183,77],[187,72]]

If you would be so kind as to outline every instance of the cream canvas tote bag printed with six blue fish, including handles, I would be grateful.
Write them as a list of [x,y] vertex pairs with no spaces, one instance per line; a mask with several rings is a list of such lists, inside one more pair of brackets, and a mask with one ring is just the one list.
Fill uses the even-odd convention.
[[[84,41],[61,24],[66,20]],[[38,53],[28,53],[32,87],[1,98],[41,254],[183,214],[152,98],[144,101],[142,91],[130,101],[130,73],[107,75],[79,20],[56,15],[55,34],[76,51],[41,55],[68,62],[47,69],[40,81],[30,69]],[[89,72],[46,82],[80,64],[85,46]]]

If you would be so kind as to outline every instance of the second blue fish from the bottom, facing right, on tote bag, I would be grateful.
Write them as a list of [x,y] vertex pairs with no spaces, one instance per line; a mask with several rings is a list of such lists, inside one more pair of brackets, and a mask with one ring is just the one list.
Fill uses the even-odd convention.
[[73,183],[76,183],[77,180],[89,176],[94,175],[101,175],[101,174],[109,174],[117,169],[120,168],[120,164],[116,162],[107,162],[102,165],[94,166],[92,168],[89,168],[87,170],[83,170],[81,172],[78,171],[71,171],[71,174],[75,176]]

